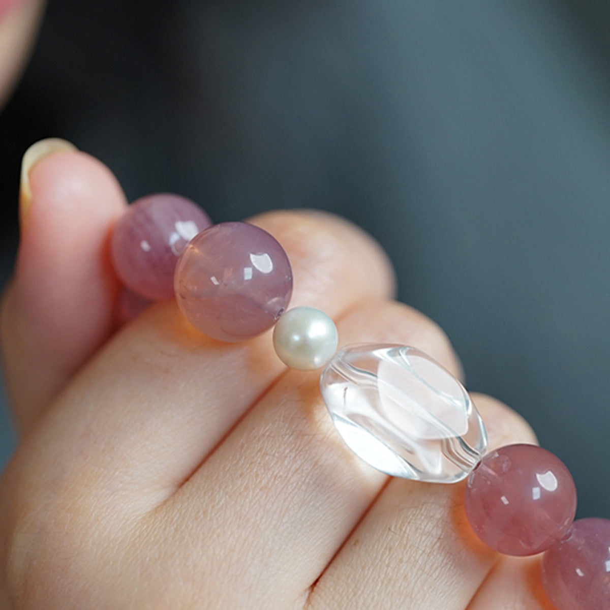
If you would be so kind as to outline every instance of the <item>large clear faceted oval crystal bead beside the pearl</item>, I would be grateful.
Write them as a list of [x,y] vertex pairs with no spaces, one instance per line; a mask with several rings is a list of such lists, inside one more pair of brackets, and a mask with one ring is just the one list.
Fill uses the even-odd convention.
[[487,446],[483,420],[462,384],[416,348],[346,346],[320,386],[343,440],[388,475],[454,483]]

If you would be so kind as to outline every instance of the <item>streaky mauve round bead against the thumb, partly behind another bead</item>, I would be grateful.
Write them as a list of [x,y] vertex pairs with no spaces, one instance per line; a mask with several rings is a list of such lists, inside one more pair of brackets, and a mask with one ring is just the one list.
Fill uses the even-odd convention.
[[110,252],[121,282],[150,300],[174,296],[174,269],[188,240],[212,221],[179,195],[142,197],[127,208],[112,233]]

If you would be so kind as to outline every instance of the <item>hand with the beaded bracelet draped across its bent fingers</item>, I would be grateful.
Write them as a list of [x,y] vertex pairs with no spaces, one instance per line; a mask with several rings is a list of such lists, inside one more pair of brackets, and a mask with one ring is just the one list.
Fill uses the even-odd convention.
[[[0,483],[2,608],[549,608],[536,558],[474,537],[463,484],[389,480],[346,448],[319,371],[287,371],[270,333],[224,344],[175,303],[115,329],[107,235],[124,195],[104,166],[56,152],[29,173],[2,349],[21,444]],[[373,240],[321,212],[253,223],[293,265],[292,306],[340,342],[401,342],[461,368],[442,330],[391,299]],[[535,442],[473,395],[490,444]]]

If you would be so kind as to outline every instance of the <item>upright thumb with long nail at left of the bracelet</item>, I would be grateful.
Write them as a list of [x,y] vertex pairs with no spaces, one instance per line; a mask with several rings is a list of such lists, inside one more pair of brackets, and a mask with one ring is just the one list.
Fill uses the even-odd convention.
[[26,152],[21,243],[0,326],[21,432],[113,329],[118,284],[107,236],[125,204],[112,173],[68,143]]

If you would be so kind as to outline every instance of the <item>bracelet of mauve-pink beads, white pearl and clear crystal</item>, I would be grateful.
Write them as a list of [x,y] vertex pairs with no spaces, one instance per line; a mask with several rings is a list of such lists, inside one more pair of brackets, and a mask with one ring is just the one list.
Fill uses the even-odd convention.
[[292,270],[281,245],[247,223],[212,224],[192,201],[151,195],[116,224],[111,253],[131,298],[173,298],[213,339],[238,342],[274,326],[291,368],[325,367],[323,399],[354,453],[390,476],[432,483],[467,478],[464,507],[500,553],[544,551],[542,583],[557,610],[610,609],[610,521],[576,514],[569,470],[536,445],[485,454],[487,434],[468,392],[440,364],[403,345],[349,345],[313,307],[287,309]]

